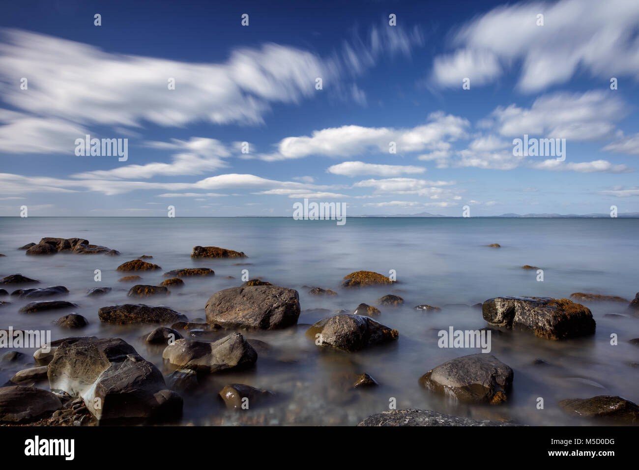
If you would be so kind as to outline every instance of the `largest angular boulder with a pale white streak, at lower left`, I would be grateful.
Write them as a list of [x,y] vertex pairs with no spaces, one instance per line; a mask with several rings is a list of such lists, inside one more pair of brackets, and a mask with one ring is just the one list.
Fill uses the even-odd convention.
[[52,391],[82,397],[98,420],[172,419],[182,399],[162,373],[119,338],[65,341],[49,363]]

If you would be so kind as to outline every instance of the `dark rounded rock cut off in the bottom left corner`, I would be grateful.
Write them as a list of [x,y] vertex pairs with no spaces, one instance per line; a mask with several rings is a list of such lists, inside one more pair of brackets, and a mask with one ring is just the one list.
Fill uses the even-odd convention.
[[41,388],[19,385],[0,388],[0,423],[31,421],[61,407],[56,395]]

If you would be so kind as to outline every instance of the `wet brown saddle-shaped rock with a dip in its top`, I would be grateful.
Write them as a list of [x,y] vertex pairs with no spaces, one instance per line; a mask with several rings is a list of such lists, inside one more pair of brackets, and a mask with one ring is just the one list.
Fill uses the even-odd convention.
[[215,373],[250,367],[258,360],[258,353],[242,334],[233,333],[214,343],[177,340],[164,349],[162,358],[180,368]]

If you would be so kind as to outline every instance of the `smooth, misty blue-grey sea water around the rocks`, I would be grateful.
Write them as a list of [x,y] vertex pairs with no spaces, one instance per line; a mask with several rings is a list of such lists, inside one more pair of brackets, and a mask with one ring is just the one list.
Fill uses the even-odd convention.
[[[153,325],[101,324],[98,308],[125,303],[166,305],[187,315],[205,318],[204,305],[213,293],[242,284],[242,270],[250,278],[295,288],[302,314],[298,326],[281,331],[243,331],[246,338],[268,343],[258,350],[255,368],[213,374],[194,393],[181,393],[181,423],[195,425],[356,425],[371,414],[387,411],[389,400],[397,409],[433,409],[475,419],[512,419],[528,425],[589,425],[567,416],[557,405],[564,398],[620,395],[639,402],[639,318],[629,315],[625,303],[588,303],[597,322],[596,334],[578,340],[551,341],[532,334],[506,331],[491,337],[491,354],[514,370],[507,403],[496,406],[446,402],[422,388],[418,379],[435,366],[479,349],[440,349],[438,331],[486,327],[481,309],[472,306],[505,295],[569,297],[573,292],[635,297],[639,290],[637,219],[482,219],[482,218],[349,218],[335,221],[295,221],[288,218],[135,218],[135,217],[19,217],[0,218],[0,277],[21,273],[39,279],[38,287],[64,285],[73,311],[89,325],[69,331],[52,325],[70,311],[19,313],[33,299],[3,297],[12,304],[0,310],[0,328],[50,329],[52,339],[65,336],[119,337],[165,375],[162,347],[142,341]],[[121,256],[26,256],[18,247],[42,237],[80,237],[108,246]],[[498,243],[500,248],[488,244]],[[244,260],[192,260],[194,246],[219,246],[245,252]],[[116,267],[141,255],[162,270],[122,273]],[[236,265],[236,263],[250,263]],[[543,282],[535,270],[543,269]],[[185,278],[183,288],[171,288],[168,297],[131,299],[132,284],[118,282],[125,274],[139,274],[142,284],[157,285],[164,272],[210,267],[215,276]],[[94,281],[94,271],[102,281]],[[395,270],[391,286],[345,290],[346,274],[372,270],[386,276]],[[228,278],[233,276],[233,279]],[[87,297],[89,288],[109,286],[102,297]],[[308,294],[309,287],[335,290],[335,297]],[[9,292],[21,285],[3,286]],[[396,343],[357,353],[320,349],[305,336],[312,323],[338,309],[352,311],[361,302],[375,304],[386,294],[404,299],[400,308],[381,307],[375,320],[399,331]],[[48,300],[48,299],[47,299]],[[425,313],[413,306],[429,304],[442,311]],[[314,311],[327,309],[328,311]],[[604,317],[609,313],[625,316]],[[610,344],[610,335],[619,344]],[[183,332],[186,336],[186,332]],[[34,349],[22,352],[33,354]],[[0,350],[4,353],[6,350]],[[543,359],[548,364],[534,364]],[[33,361],[32,361],[33,362]],[[19,366],[3,366],[4,384]],[[369,373],[380,386],[347,390],[348,377]],[[243,383],[277,393],[271,401],[248,411],[230,411],[217,394],[230,383]],[[544,409],[537,409],[537,398]]]

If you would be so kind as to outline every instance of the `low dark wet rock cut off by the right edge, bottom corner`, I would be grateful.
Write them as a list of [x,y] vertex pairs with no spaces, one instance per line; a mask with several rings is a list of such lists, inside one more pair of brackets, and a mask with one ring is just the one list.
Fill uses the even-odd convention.
[[567,398],[559,406],[580,418],[601,418],[623,424],[639,423],[639,407],[620,396],[599,395],[592,398]]

